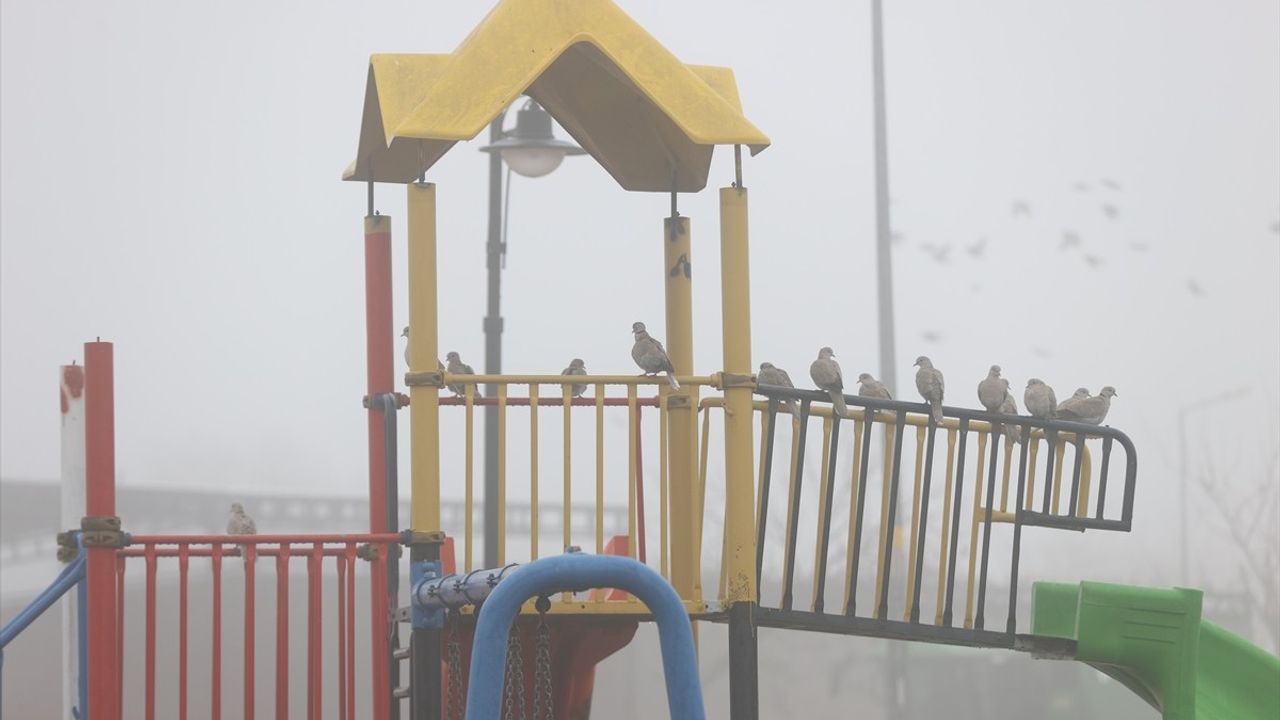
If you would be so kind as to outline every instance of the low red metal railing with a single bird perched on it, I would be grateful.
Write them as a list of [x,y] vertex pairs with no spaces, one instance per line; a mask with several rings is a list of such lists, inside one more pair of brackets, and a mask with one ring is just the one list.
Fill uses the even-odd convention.
[[[370,573],[366,574],[374,584],[378,578],[385,578],[387,559],[390,555],[388,546],[397,546],[401,537],[394,533],[376,534],[261,534],[261,536],[133,536],[129,547],[116,551],[115,562],[115,588],[116,588],[116,628],[118,638],[125,635],[125,568],[131,559],[141,557],[145,568],[145,639],[143,639],[143,710],[146,720],[155,717],[178,717],[186,720],[188,716],[188,625],[189,625],[189,577],[192,559],[209,559],[210,588],[210,678],[209,697],[210,714],[212,720],[221,717],[223,700],[223,566],[224,561],[237,560],[242,565],[243,573],[243,710],[234,716],[252,720],[257,693],[255,689],[255,635],[257,630],[256,616],[256,577],[257,560],[274,559],[270,565],[275,566],[275,716],[289,716],[289,571],[294,566],[292,559],[306,559],[307,596],[306,596],[306,717],[321,717],[326,696],[337,702],[338,717],[355,720],[356,714],[356,561],[367,559]],[[376,552],[358,552],[360,546],[367,544],[376,548]],[[324,578],[326,559],[333,559],[333,568],[337,577],[337,626],[325,628],[324,623]],[[156,676],[157,643],[172,641],[172,629],[160,634],[157,630],[157,578],[160,568],[168,562],[161,560],[177,560],[178,569],[178,659],[177,671],[165,678]],[[385,583],[379,585],[385,588]],[[374,587],[370,587],[374,592]],[[385,591],[384,591],[385,592]],[[383,633],[370,634],[370,656],[378,657],[378,648],[385,643],[378,643],[379,635],[387,638],[390,626],[387,625]],[[325,657],[333,653],[324,653],[325,638],[332,638],[337,646],[338,683],[337,688],[330,688],[323,680]],[[165,641],[161,641],[165,638]],[[119,674],[116,682],[118,697],[120,698],[120,717],[138,716],[137,707],[129,707],[124,712],[124,682],[129,669],[134,664],[125,664],[125,643],[118,639],[115,660]],[[166,685],[177,684],[177,711],[173,708],[157,708],[157,682]],[[374,687],[364,693],[367,696],[371,712],[360,716],[378,717],[379,708],[387,707],[390,688]],[[383,696],[387,696],[385,698]],[[92,707],[92,705],[90,706]],[[201,714],[204,715],[204,714]]]

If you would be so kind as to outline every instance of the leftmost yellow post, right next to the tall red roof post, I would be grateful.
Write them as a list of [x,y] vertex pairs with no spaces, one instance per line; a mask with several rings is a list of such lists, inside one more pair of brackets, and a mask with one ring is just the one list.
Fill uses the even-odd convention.
[[[411,372],[436,370],[440,348],[435,273],[435,184],[408,184],[408,324]],[[433,360],[435,363],[433,363]],[[410,459],[415,532],[440,529],[440,388],[410,387]]]

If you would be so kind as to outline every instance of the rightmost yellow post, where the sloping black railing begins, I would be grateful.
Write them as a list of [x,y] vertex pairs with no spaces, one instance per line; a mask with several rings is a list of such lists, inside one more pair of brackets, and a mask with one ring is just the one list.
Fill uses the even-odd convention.
[[721,188],[724,343],[726,603],[755,602],[755,457],[751,437],[751,287],[745,187]]

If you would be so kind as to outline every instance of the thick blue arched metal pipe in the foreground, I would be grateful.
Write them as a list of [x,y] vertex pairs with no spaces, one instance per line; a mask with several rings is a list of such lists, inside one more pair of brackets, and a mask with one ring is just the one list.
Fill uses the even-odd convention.
[[489,594],[476,624],[467,689],[467,720],[497,720],[502,712],[507,635],[525,601],[558,592],[621,588],[649,606],[658,621],[667,706],[672,717],[705,720],[694,633],[689,615],[660,575],[630,557],[570,552],[521,565]]

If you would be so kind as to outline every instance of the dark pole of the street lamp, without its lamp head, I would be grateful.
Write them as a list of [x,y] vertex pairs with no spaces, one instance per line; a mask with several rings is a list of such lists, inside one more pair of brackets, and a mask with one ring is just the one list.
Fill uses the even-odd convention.
[[[489,142],[502,140],[503,110],[489,123]],[[485,243],[489,270],[488,310],[484,318],[484,372],[502,373],[502,154],[489,154],[489,240]],[[485,386],[485,396],[495,397],[498,386]],[[498,562],[498,406],[484,409],[484,566]]]

